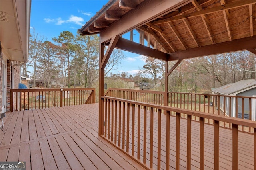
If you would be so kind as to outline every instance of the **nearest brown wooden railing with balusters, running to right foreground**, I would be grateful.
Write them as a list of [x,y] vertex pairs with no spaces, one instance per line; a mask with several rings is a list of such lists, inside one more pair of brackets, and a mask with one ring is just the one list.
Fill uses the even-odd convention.
[[[100,114],[102,114],[102,119],[104,119],[102,120],[102,124],[99,125],[99,128],[104,127],[104,134],[101,134],[101,136],[119,150],[129,155],[130,158],[136,160],[144,168],[150,167],[168,170],[172,167],[179,169],[181,166],[180,156],[182,156],[182,166],[184,169],[189,170],[191,169],[191,160],[196,155],[196,157],[199,157],[197,161],[200,162],[198,163],[198,169],[203,170],[205,164],[208,164],[208,160],[205,161],[205,157],[208,158],[209,156],[209,154],[205,156],[206,152],[204,151],[205,147],[208,147],[204,145],[205,140],[208,140],[207,137],[204,137],[205,133],[209,133],[208,130],[204,131],[204,126],[208,123],[208,120],[214,124],[214,128],[212,128],[214,129],[214,134],[210,135],[210,138],[214,141],[212,145],[214,148],[212,151],[214,154],[214,166],[211,167],[219,169],[220,161],[222,161],[219,156],[219,146],[223,140],[220,140],[219,133],[220,124],[225,122],[232,125],[231,143],[227,144],[228,146],[232,146],[229,147],[232,150],[232,163],[229,165],[232,168],[230,169],[238,169],[238,162],[243,159],[238,154],[238,139],[241,140],[240,135],[238,135],[238,126],[246,126],[253,129],[254,135],[248,135],[252,136],[254,142],[250,140],[251,143],[248,143],[248,146],[250,145],[250,150],[254,150],[254,154],[250,154],[250,163],[252,166],[254,165],[254,169],[256,168],[255,121],[109,96],[101,96],[101,100],[102,108],[100,108]],[[156,112],[154,111],[155,109],[157,109]],[[163,112],[166,112],[166,115],[162,114]],[[176,121],[170,122],[171,113],[174,113],[173,116]],[[186,121],[184,119],[181,120],[181,117],[184,117]],[[192,123],[192,119],[195,117],[200,122],[197,126]],[[185,125],[181,127],[181,123]],[[186,129],[182,129],[184,127]],[[186,137],[180,136],[181,131],[186,131]],[[199,150],[199,154],[191,150],[193,145],[191,140],[192,134],[195,133],[198,133],[200,137],[198,141],[199,148],[196,147]],[[173,138],[174,136],[176,136],[174,141],[170,141],[170,137]],[[244,137],[242,138],[242,140],[247,140]],[[170,158],[170,154],[174,155],[174,158]],[[186,160],[184,160],[184,154]],[[172,161],[172,165],[170,161]]]

